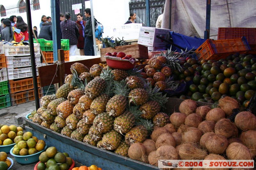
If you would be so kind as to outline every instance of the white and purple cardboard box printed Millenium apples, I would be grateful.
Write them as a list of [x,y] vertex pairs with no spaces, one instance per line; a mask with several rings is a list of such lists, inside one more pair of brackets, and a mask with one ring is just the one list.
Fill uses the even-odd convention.
[[141,26],[138,44],[150,47],[165,47],[168,42],[163,41],[156,36],[158,35],[166,40],[169,40],[169,31],[171,30]]

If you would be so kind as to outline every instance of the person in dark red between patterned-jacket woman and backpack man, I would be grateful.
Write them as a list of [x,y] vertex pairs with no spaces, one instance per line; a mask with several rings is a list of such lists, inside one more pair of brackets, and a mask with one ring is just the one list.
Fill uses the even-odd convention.
[[78,13],[76,15],[76,25],[79,29],[80,36],[77,39],[77,48],[79,49],[80,55],[84,55],[84,27],[86,22],[83,20],[83,14]]

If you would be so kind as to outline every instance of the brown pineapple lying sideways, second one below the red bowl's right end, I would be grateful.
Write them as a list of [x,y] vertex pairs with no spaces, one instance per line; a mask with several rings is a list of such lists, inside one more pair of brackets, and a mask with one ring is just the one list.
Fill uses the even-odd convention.
[[142,105],[148,101],[148,93],[144,89],[133,89],[128,95],[129,104]]

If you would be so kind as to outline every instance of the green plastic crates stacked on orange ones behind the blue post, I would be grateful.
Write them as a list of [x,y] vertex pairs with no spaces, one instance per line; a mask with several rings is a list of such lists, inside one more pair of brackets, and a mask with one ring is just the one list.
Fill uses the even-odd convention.
[[[47,63],[53,63],[53,43],[45,39],[37,39],[40,48],[43,51],[44,58]],[[36,40],[34,39],[34,43]],[[69,40],[61,39],[61,49],[64,50],[64,60],[69,61]]]

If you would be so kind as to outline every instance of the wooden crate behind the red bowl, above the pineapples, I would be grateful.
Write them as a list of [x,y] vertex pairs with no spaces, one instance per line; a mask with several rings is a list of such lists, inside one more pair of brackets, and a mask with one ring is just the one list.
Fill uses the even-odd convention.
[[133,58],[148,59],[148,47],[141,44],[124,45],[124,46],[118,46],[115,48],[111,48],[111,47],[101,48],[100,49],[101,62],[106,61],[106,58],[104,58],[104,56],[107,52],[110,52],[110,53],[124,52],[125,54],[132,55]]

